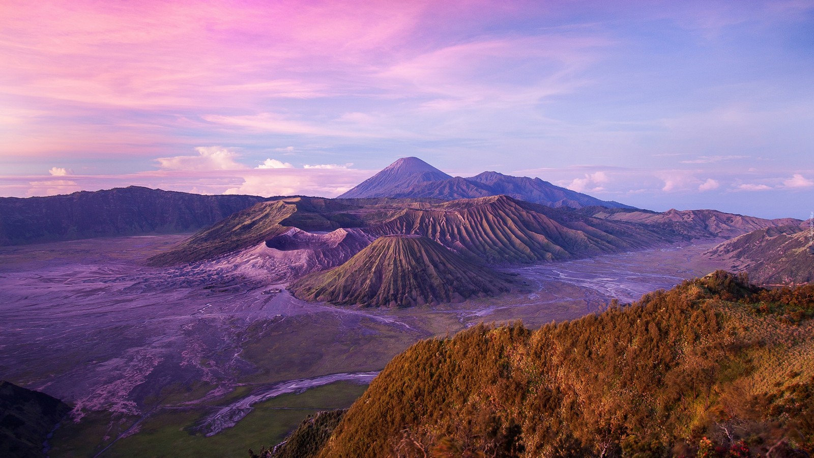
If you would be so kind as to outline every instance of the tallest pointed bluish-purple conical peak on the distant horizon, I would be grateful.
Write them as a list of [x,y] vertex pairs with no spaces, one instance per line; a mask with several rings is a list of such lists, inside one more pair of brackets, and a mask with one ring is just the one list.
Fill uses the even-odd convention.
[[419,183],[430,183],[452,178],[418,157],[402,157],[381,172],[367,178],[340,198],[364,199],[369,197],[392,197]]

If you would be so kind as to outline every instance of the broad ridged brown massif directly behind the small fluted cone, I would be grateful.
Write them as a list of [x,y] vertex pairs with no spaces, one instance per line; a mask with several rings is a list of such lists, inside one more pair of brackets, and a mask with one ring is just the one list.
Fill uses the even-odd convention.
[[[530,204],[507,196],[449,202],[396,199],[323,199],[291,197],[269,200],[236,213],[151,259],[156,266],[199,262],[255,247],[304,242],[302,231],[348,228],[373,240],[397,234],[427,236],[477,262],[536,262],[584,258],[594,254],[642,249],[684,240],[669,231],[641,224],[591,218],[562,209]],[[281,237],[272,241],[275,237]],[[316,240],[316,239],[314,239]],[[344,248],[364,248],[344,244]],[[322,255],[330,256],[326,245]]]

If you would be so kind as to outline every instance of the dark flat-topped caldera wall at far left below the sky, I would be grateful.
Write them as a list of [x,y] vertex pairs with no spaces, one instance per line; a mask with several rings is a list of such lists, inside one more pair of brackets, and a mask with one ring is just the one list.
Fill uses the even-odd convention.
[[197,231],[258,196],[199,196],[147,187],[0,198],[0,245]]

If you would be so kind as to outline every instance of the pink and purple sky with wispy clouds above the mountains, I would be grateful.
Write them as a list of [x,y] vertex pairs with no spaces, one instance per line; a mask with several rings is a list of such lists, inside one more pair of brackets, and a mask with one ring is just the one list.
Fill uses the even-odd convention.
[[0,22],[2,196],[336,196],[418,156],[814,211],[814,0],[6,0]]

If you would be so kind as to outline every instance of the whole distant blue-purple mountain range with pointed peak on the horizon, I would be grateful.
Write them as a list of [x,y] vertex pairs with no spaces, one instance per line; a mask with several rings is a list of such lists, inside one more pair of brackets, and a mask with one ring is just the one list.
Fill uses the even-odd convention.
[[457,200],[499,195],[551,207],[581,208],[599,205],[608,208],[634,208],[554,186],[540,178],[513,177],[497,172],[483,172],[470,178],[452,177],[418,157],[400,158],[339,198],[422,197]]

